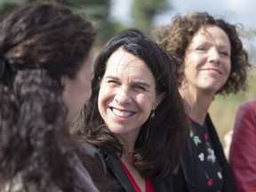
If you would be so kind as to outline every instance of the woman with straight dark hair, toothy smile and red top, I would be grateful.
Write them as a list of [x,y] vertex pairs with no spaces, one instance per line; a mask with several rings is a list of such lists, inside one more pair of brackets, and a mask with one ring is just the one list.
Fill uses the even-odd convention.
[[172,192],[168,176],[187,140],[173,62],[136,29],[114,36],[100,51],[77,134],[95,147],[117,183],[113,191]]

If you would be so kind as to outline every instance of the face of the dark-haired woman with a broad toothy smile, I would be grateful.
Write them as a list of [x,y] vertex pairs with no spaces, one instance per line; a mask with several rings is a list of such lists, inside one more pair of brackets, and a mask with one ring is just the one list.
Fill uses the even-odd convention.
[[155,78],[143,60],[119,48],[107,62],[98,107],[108,129],[118,138],[135,140],[156,108]]

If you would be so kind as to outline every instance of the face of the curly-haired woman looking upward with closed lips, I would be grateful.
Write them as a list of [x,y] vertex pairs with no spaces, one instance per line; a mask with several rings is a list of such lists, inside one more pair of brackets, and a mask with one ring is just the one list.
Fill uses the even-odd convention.
[[183,85],[186,84],[192,92],[214,95],[228,80],[230,56],[231,45],[221,28],[199,29],[186,50]]

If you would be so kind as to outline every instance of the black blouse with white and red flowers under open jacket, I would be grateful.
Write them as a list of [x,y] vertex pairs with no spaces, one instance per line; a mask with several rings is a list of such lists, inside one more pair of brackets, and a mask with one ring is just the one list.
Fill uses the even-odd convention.
[[196,164],[196,191],[220,192],[223,186],[222,171],[214,154],[207,125],[197,124],[188,118],[189,138]]

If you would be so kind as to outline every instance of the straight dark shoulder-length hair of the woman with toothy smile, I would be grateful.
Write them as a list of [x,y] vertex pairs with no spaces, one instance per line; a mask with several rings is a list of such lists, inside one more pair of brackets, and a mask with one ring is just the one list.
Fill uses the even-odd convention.
[[[173,57],[137,29],[127,29],[108,41],[95,63],[92,98],[80,116],[80,140],[86,140],[107,153],[124,153],[124,148],[109,132],[97,106],[100,82],[109,57],[118,48],[143,60],[156,80],[156,94],[165,93],[154,119],[148,117],[140,129],[133,151],[133,164],[143,176],[164,177],[178,164],[186,141],[185,112],[173,76]],[[147,129],[148,138],[146,138]]]

